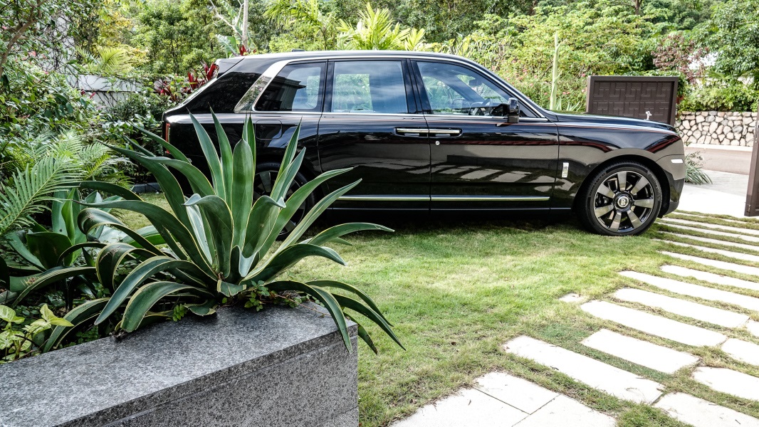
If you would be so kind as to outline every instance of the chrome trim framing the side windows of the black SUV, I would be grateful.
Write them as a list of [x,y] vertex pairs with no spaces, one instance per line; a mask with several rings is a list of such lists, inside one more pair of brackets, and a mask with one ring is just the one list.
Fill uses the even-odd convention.
[[[353,52],[355,53],[355,52]],[[392,58],[392,59],[391,59]],[[256,109],[256,105],[258,104],[259,99],[263,95],[264,92],[266,92],[266,89],[269,88],[269,85],[272,83],[272,80],[274,80],[274,77],[279,74],[280,71],[282,71],[282,68],[285,68],[286,65],[291,64],[292,62],[308,62],[308,61],[332,61],[332,60],[344,60],[344,59],[350,59],[350,60],[359,60],[359,59],[385,59],[392,61],[393,59],[395,61],[402,61],[404,59],[414,59],[414,60],[427,60],[427,61],[443,61],[443,62],[455,62],[457,64],[461,64],[465,67],[472,68],[472,64],[467,61],[461,61],[455,58],[435,58],[434,56],[421,56],[421,55],[399,55],[397,58],[394,56],[386,56],[386,55],[366,55],[357,57],[355,55],[335,55],[335,56],[314,56],[314,57],[304,57],[304,58],[292,58],[292,59],[284,59],[282,61],[277,61],[274,64],[269,65],[269,68],[266,68],[266,71],[261,74],[261,77],[256,80],[253,85],[250,86],[250,89],[247,89],[247,92],[245,95],[242,96],[240,101],[238,102],[238,105],[235,105],[235,113],[266,113],[266,112],[288,112],[293,114],[303,114],[300,111],[258,111]],[[476,63],[475,63],[476,64]],[[495,74],[493,74],[492,71],[487,70],[487,68],[482,67],[480,65],[480,68],[482,68],[484,71],[487,71],[486,75],[487,77],[490,77],[493,79],[493,77],[496,77],[495,83],[498,85],[501,89],[505,90],[506,92],[510,92],[509,88],[504,86],[502,84],[502,81],[500,77],[497,77]],[[265,81],[263,79],[266,79]],[[250,110],[242,110],[241,103],[243,102],[243,99],[246,99],[246,96],[248,93],[254,90],[254,88],[257,86],[257,83],[261,82],[262,86],[260,89],[255,90],[255,99],[252,104],[252,108]],[[324,94],[326,96],[326,94]],[[535,108],[532,108],[532,105],[530,102],[528,102],[526,99],[519,96],[518,93],[513,94],[516,99],[519,99],[525,106],[530,108],[530,111],[532,111],[535,115],[537,115],[537,118],[543,119],[543,121],[548,121],[545,115],[543,115],[540,111],[537,111]],[[253,93],[251,93],[251,96],[253,96]],[[247,102],[246,102],[247,103]],[[313,111],[310,111],[313,112]],[[328,112],[328,111],[323,111]],[[319,113],[321,114],[321,113]],[[341,113],[329,113],[329,114],[341,114]],[[358,115],[366,115],[366,114],[372,114],[372,113],[351,113],[346,112],[342,114],[358,114]],[[393,114],[393,113],[376,113],[376,114]],[[418,116],[418,115],[416,115]],[[527,118],[519,118],[519,120],[523,120]]]

